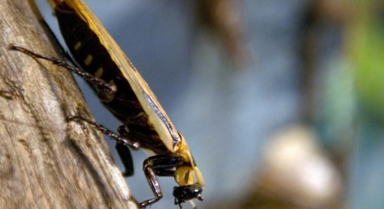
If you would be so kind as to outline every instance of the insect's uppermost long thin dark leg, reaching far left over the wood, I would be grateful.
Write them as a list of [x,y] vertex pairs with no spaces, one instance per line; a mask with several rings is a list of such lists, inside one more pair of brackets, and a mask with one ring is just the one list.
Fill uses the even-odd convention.
[[74,68],[74,67],[68,65],[66,62],[61,61],[61,60],[59,60],[59,59],[57,59],[55,57],[46,56],[46,55],[43,55],[43,54],[39,54],[39,53],[33,52],[33,51],[28,50],[28,49],[26,49],[24,47],[21,47],[21,46],[19,46],[17,44],[10,44],[9,47],[12,50],[17,50],[17,51],[23,52],[23,53],[25,53],[25,54],[27,54],[29,56],[35,57],[35,58],[49,60],[54,65],[61,66],[61,67],[65,68],[65,69],[67,69],[67,70],[70,70],[70,71],[76,73],[78,76],[80,76],[81,78],[85,79],[89,83],[97,86],[100,89],[100,92],[99,92],[98,96],[99,96],[99,98],[102,101],[110,101],[115,96],[115,93],[117,91],[116,86],[109,85],[103,79],[97,78],[94,75],[92,75],[91,73],[88,73],[88,72],[86,72],[84,70],[81,70],[79,68]]

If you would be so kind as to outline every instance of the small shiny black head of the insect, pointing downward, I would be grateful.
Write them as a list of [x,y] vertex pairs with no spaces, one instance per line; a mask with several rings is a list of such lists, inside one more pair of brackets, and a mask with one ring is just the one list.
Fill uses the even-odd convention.
[[174,187],[173,195],[175,197],[175,205],[178,204],[181,206],[183,202],[194,198],[203,201],[201,192],[203,192],[203,189],[198,184]]

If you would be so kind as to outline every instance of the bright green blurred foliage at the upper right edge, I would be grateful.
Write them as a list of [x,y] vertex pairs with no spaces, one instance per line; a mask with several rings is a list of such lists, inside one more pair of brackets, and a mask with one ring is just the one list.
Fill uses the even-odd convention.
[[[381,1],[359,1],[351,39],[357,97],[364,112],[384,122],[384,6]],[[360,7],[361,6],[361,7]]]

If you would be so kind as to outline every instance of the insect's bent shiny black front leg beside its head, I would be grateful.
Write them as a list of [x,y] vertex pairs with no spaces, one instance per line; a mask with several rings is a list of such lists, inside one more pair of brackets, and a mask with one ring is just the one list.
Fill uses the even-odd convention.
[[175,173],[176,167],[182,163],[183,162],[180,157],[165,155],[152,156],[144,160],[143,171],[145,177],[148,180],[149,186],[152,189],[152,192],[155,194],[155,198],[141,202],[140,207],[147,207],[153,203],[156,203],[163,197],[160,186],[158,184],[157,175],[173,175]]

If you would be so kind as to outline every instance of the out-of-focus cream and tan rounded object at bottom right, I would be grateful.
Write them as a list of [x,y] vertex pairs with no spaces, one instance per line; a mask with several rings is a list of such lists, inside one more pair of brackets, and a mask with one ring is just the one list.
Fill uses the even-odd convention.
[[343,209],[342,177],[312,130],[294,125],[265,146],[264,163],[249,195],[216,209]]

